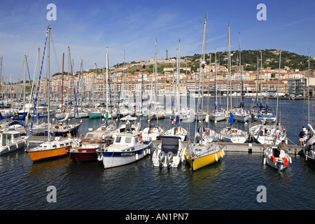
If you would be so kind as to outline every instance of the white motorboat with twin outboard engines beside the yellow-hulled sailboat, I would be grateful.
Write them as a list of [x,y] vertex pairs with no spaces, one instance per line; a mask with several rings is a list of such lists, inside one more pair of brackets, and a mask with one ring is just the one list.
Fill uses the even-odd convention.
[[181,137],[160,136],[162,143],[155,149],[152,157],[154,167],[176,168],[185,160]]

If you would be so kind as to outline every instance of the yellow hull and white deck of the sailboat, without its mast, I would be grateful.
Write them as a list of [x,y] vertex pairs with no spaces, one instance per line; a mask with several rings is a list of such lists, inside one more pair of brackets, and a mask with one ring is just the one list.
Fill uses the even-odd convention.
[[224,151],[216,142],[190,144],[185,152],[186,161],[193,170],[218,162],[223,156]]

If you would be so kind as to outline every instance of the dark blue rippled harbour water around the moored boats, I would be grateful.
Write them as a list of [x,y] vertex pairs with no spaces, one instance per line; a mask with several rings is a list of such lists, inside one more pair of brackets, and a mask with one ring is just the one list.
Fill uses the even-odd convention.
[[[274,111],[275,102],[269,99],[268,104]],[[251,104],[252,99],[247,98],[246,108]],[[313,108],[311,105],[311,111]],[[279,113],[288,143],[298,145],[297,134],[307,125],[307,102],[279,100]],[[79,132],[102,122],[85,118]],[[146,124],[146,118],[141,123]],[[168,118],[159,124],[165,130],[172,127]],[[193,139],[195,122],[181,125]],[[227,123],[209,125],[218,132]],[[248,130],[253,122],[235,125]],[[105,170],[102,162],[76,163],[68,157],[33,163],[24,150],[1,155],[0,209],[315,209],[315,167],[299,155],[291,155],[293,163],[280,174],[263,165],[260,153],[225,152],[222,160],[196,172],[185,163],[175,169],[153,168],[151,156]],[[49,186],[56,189],[56,202],[48,202]],[[265,187],[266,202],[258,202],[259,186]]]

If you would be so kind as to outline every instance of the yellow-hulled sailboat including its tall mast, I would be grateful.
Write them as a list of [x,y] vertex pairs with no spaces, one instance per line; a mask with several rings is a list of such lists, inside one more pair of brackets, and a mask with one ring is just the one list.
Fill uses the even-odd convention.
[[[204,37],[202,44],[202,62],[200,63],[200,75],[202,73],[202,97],[204,90],[204,66],[206,64],[204,60],[205,45],[206,45],[206,27],[207,27],[207,15],[204,19]],[[203,101],[202,101],[203,109]],[[202,128],[203,120],[201,120]],[[196,124],[197,125],[197,124]],[[223,150],[216,142],[204,142],[202,135],[200,140],[195,143],[188,144],[186,151],[184,152],[186,161],[190,164],[192,170],[197,170],[207,165],[211,165],[214,162],[218,162],[223,157]]]

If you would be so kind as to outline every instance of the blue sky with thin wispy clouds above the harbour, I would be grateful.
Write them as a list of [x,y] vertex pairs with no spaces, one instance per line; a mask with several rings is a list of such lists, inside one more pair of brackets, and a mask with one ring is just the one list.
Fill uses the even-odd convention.
[[[48,4],[56,6],[56,20]],[[264,8],[258,7],[263,3]],[[24,79],[27,55],[27,80],[33,78],[37,49],[41,57],[47,27],[51,26],[50,74],[68,71],[68,47],[73,70],[109,66],[123,62],[148,61],[202,52],[204,18],[207,15],[206,52],[228,50],[230,24],[231,50],[278,49],[315,57],[314,0],[1,0],[0,57],[2,76],[12,82]],[[258,20],[265,16],[265,20]],[[46,52],[47,54],[47,52]],[[45,62],[44,62],[45,65]],[[43,75],[47,73],[43,66]]]

